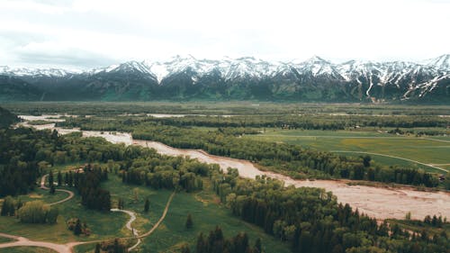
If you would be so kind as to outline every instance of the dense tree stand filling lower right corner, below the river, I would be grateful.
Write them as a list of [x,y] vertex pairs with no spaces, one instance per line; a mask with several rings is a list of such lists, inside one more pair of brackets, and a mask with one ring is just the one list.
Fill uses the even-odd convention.
[[216,171],[211,179],[233,214],[290,242],[293,252],[431,253],[450,247],[445,231],[431,237],[426,230],[410,235],[398,225],[378,225],[324,189],[284,187],[265,176],[242,179],[236,170]]

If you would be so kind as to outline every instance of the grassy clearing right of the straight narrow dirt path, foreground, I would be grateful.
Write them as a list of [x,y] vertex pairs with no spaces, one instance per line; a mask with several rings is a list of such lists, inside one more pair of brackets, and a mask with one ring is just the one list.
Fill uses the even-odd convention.
[[[247,232],[250,245],[254,245],[255,240],[261,238],[265,252],[290,252],[287,244],[268,236],[257,226],[232,216],[230,211],[220,204],[218,197],[208,189],[208,182],[205,183],[205,190],[200,193],[175,195],[166,220],[152,236],[144,239],[142,252],[178,252],[183,242],[187,242],[193,249],[198,234],[203,232],[207,236],[216,225],[222,228],[227,238],[237,235],[240,231]],[[184,227],[187,213],[191,213],[193,217],[192,230],[186,230]]]

